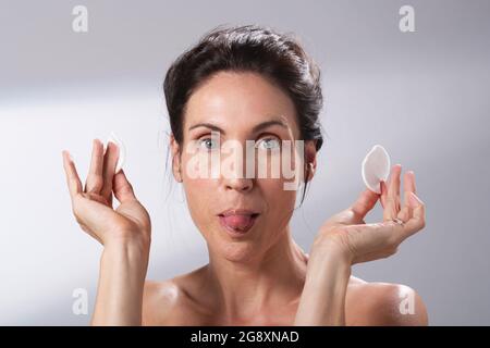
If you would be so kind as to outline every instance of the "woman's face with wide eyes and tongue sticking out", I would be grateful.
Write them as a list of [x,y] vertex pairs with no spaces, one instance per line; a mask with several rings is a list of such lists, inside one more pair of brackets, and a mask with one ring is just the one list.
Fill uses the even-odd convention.
[[[220,72],[189,98],[183,136],[181,148],[171,139],[173,173],[183,183],[192,219],[210,252],[233,261],[261,257],[286,233],[295,206],[297,191],[285,189],[285,183],[294,182],[291,172],[277,165],[286,161],[287,169],[303,167],[294,150],[298,141],[291,150],[282,147],[282,140],[299,136],[293,101],[260,75]],[[266,160],[260,162],[259,157]],[[272,174],[273,165],[279,175]],[[303,177],[296,173],[296,179]],[[232,211],[223,216],[233,209],[258,215]]]

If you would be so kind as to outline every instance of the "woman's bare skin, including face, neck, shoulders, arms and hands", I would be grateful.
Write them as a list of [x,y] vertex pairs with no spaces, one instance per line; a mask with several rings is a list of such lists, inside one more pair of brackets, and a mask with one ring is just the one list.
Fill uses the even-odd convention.
[[[273,115],[281,115],[285,126],[253,132],[279,120]],[[219,73],[194,91],[183,124],[184,147],[209,139],[209,126],[203,123],[218,125],[224,138],[240,141],[299,139],[291,99],[250,73]],[[103,245],[94,325],[427,324],[425,304],[412,288],[366,283],[351,274],[353,264],[390,257],[424,228],[425,204],[416,196],[413,172],[403,175],[403,202],[397,164],[380,195],[366,189],[326,220],[308,257],[292,238],[289,221],[296,191],[284,190],[283,178],[193,178],[186,171],[191,156],[173,137],[170,146],[173,175],[183,184],[192,219],[207,243],[209,264],[163,282],[145,281],[151,223],[124,172],[114,174],[118,148],[110,144],[103,152],[102,144],[94,141],[85,187],[63,152],[74,215]],[[208,148],[198,151],[205,158],[209,153]],[[310,181],[317,167],[313,142],[305,144],[305,152]],[[117,209],[112,196],[121,203]],[[378,201],[382,221],[366,224]],[[246,238],[235,239],[220,226],[217,214],[230,208],[260,213]],[[401,310],[407,298],[414,303],[408,313]]]

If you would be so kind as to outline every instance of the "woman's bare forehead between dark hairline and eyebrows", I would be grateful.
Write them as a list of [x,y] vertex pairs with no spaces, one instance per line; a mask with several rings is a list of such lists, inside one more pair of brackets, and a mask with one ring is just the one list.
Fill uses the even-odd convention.
[[291,98],[255,73],[220,72],[194,91],[187,101],[184,132],[196,123],[213,122],[234,129],[283,116],[297,135]]

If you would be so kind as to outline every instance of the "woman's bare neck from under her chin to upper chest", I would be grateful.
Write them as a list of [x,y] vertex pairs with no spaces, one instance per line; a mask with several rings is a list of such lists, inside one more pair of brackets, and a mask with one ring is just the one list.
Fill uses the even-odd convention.
[[299,300],[306,258],[287,226],[272,247],[246,262],[210,253],[206,271],[208,284],[217,294],[217,308],[225,318],[253,320]]

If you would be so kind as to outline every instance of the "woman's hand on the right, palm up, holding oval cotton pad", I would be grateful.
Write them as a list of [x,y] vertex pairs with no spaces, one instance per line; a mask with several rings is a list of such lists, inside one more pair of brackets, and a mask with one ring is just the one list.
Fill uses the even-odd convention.
[[[353,206],[333,215],[315,238],[310,258],[333,247],[351,264],[387,258],[399,245],[425,227],[425,204],[415,194],[415,176],[404,174],[403,207],[400,198],[402,166],[393,165],[389,184],[381,183],[381,194],[366,189]],[[383,222],[366,224],[364,217],[376,206],[383,207]],[[397,219],[397,222],[394,221]]]

